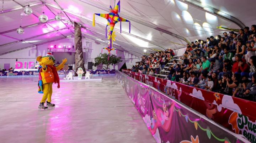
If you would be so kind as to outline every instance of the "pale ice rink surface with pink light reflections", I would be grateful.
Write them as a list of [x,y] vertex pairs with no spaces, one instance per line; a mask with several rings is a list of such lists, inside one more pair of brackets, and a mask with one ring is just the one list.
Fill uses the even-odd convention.
[[54,84],[47,110],[37,80],[0,78],[1,143],[155,143],[115,76]]

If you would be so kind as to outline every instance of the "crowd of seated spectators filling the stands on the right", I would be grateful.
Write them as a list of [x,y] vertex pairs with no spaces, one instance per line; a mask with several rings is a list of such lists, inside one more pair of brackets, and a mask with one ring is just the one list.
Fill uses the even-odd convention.
[[[180,59],[164,70],[166,79],[256,101],[256,25],[187,44]],[[142,56],[132,71],[159,75],[174,56],[170,48]]]

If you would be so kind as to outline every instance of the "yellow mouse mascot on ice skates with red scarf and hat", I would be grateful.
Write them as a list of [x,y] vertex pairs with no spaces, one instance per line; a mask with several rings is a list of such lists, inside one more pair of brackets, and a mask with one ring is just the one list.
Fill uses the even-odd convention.
[[[52,84],[53,82],[59,85],[59,75],[57,73],[58,70],[64,67],[64,64],[68,61],[66,58],[62,60],[62,63],[55,67],[55,58],[53,57],[52,53],[47,53],[46,56],[37,57],[37,61],[39,62],[39,69],[38,69],[38,93],[43,93],[43,98],[39,104],[38,109],[46,109],[48,107],[54,107],[55,104],[51,103],[52,97]],[[44,106],[44,103],[47,99],[47,107]]]

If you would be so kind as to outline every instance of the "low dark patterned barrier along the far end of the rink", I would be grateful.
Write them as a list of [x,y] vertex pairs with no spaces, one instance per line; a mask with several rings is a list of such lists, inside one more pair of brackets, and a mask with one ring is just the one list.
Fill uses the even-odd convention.
[[[59,70],[58,74],[59,75],[65,75],[69,73],[69,71],[71,71],[73,74],[75,73],[74,70]],[[114,74],[115,70],[90,70],[90,72],[92,74]],[[26,76],[26,75],[38,75],[37,71],[14,71],[14,70],[10,70],[10,71],[2,71],[0,70],[0,76]]]

